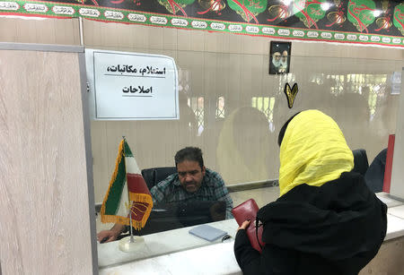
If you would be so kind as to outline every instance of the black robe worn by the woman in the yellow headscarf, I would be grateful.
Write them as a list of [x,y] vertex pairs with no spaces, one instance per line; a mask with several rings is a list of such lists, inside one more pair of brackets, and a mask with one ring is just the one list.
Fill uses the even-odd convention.
[[259,254],[239,230],[234,254],[244,274],[357,274],[377,254],[387,206],[355,172],[321,187],[295,186],[261,208]]

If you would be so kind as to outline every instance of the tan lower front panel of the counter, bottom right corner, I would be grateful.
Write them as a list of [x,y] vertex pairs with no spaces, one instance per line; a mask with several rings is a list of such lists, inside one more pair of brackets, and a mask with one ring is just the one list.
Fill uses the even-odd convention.
[[404,237],[385,241],[379,252],[359,275],[399,275],[403,273],[402,255],[404,254]]

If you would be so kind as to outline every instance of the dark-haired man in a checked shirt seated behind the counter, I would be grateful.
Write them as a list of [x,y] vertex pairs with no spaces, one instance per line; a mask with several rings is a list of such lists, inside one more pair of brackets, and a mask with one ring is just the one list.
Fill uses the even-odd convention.
[[[224,201],[225,219],[232,219],[232,198],[222,177],[205,168],[202,150],[186,147],[175,154],[174,160],[177,173],[168,176],[150,190],[154,204],[158,206],[172,202]],[[110,230],[102,230],[97,238],[100,242],[115,241],[125,229],[124,225],[117,223]]]

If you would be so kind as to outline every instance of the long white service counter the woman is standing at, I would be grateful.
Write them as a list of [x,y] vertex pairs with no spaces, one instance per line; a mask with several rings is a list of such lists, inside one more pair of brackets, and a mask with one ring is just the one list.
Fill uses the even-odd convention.
[[[377,195],[378,197],[383,196],[384,199],[387,198],[384,193]],[[386,262],[389,261],[393,262],[393,264],[400,265],[398,268],[401,268],[401,262],[397,262],[394,259],[391,260],[390,255],[401,254],[400,249],[403,247],[404,205],[402,205],[402,202],[394,200],[389,202],[389,204],[394,206],[389,208],[387,214],[387,234],[380,253],[360,272],[360,275],[370,272],[373,272],[373,274],[389,273],[388,271],[385,272],[386,269],[388,269],[388,267],[385,266]],[[227,231],[231,236],[234,236],[238,228],[234,219],[213,222],[211,225],[215,228],[221,228]],[[211,245],[211,243],[197,236],[189,235],[189,229],[190,228],[180,228],[145,236],[145,243],[148,243],[147,250],[138,253],[138,255],[129,256],[120,252],[116,242],[99,245],[100,275],[242,274],[233,253],[234,239],[224,244],[220,243],[219,240],[216,244]],[[146,239],[148,239],[148,241]],[[160,243],[160,247],[158,243]],[[151,244],[157,247],[150,247],[152,246]],[[383,249],[383,246],[387,248]],[[114,254],[116,254],[116,256],[114,256]],[[126,255],[126,260],[119,258],[118,254],[121,255],[120,257]],[[151,255],[153,255],[153,257],[148,258]],[[127,263],[107,267],[105,263],[108,257],[115,257],[116,260],[119,259],[119,262]],[[203,260],[201,261],[201,259]],[[132,262],[133,260],[138,261]],[[110,260],[109,262],[113,261]],[[118,261],[116,262],[118,263]],[[399,273],[392,272],[391,274]]]

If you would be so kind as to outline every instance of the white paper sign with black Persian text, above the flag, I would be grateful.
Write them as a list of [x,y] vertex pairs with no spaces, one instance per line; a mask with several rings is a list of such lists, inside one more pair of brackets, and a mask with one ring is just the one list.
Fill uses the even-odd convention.
[[170,56],[85,49],[96,120],[179,119],[178,72]]

